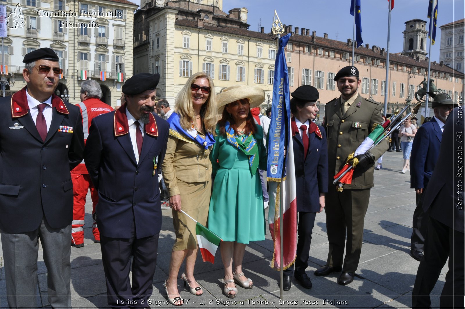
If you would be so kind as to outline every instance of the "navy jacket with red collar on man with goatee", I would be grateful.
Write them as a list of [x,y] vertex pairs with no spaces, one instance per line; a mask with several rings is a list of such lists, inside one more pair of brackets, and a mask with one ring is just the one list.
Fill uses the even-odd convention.
[[158,173],[169,125],[156,114],[149,118],[139,163],[129,136],[126,104],[92,120],[84,161],[99,191],[97,224],[106,237],[130,238],[135,231],[139,239],[160,231]]

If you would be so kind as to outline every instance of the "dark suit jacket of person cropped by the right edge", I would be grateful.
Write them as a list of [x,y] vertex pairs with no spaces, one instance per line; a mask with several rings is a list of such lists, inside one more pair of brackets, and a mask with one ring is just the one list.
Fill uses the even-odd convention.
[[[439,157],[425,192],[423,210],[464,233],[464,107],[453,109],[444,126]],[[416,137],[415,137],[416,138]]]

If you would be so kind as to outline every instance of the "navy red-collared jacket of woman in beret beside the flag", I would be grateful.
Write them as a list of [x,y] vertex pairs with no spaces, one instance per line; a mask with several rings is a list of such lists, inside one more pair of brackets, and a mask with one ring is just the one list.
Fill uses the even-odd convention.
[[307,157],[304,159],[304,144],[291,120],[292,145],[294,150],[297,211],[319,212],[319,194],[328,192],[328,148],[323,127],[311,123],[313,133],[309,137]]

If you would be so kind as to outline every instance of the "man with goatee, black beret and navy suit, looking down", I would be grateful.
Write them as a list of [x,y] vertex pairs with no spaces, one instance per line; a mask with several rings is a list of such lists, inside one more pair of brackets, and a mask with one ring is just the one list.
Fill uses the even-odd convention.
[[[154,113],[158,74],[123,86],[126,103],[92,120],[84,161],[99,192],[97,225],[110,307],[146,307],[157,262],[159,168],[169,125]],[[129,271],[132,262],[132,286]]]

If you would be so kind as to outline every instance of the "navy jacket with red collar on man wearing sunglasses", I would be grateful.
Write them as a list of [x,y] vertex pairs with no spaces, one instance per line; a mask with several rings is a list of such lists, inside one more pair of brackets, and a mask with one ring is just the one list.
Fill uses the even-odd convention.
[[[0,228],[7,233],[33,231],[44,216],[52,228],[73,220],[70,170],[84,150],[81,114],[54,94],[52,107],[44,142],[29,113],[26,87],[0,99]],[[60,126],[73,131],[60,132]]]

